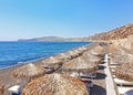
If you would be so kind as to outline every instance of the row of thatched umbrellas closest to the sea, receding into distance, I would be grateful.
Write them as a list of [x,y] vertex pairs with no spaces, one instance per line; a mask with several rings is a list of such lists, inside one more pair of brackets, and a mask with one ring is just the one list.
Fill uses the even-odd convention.
[[[78,50],[84,51],[85,48],[82,46],[82,48],[79,48]],[[69,51],[66,53],[70,53],[71,55],[73,54],[72,51]],[[60,57],[61,59],[63,59],[63,57],[64,59],[65,57],[71,59],[70,55],[64,54],[64,53],[61,53]],[[60,59],[58,59],[58,56],[57,57],[51,56],[51,57],[49,57],[47,60],[43,60],[42,63],[45,64],[45,65],[55,65],[55,64],[61,63],[61,61],[60,61]],[[44,74],[44,68],[42,66],[37,66],[37,65],[32,64],[32,63],[25,64],[25,65],[17,68],[17,70],[14,70],[12,72],[12,75],[16,78],[23,78],[24,77],[27,80],[32,80],[32,78],[35,78],[35,77],[41,76],[43,74]]]

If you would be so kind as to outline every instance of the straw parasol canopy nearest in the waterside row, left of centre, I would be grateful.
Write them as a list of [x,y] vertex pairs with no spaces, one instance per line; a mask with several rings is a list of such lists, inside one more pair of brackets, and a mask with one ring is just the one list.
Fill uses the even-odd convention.
[[32,63],[18,67],[12,72],[16,78],[25,78],[28,81],[44,75],[44,68]]

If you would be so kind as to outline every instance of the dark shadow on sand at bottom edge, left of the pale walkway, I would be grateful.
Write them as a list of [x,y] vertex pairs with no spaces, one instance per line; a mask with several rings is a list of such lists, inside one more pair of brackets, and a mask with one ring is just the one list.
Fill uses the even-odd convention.
[[106,95],[106,91],[102,86],[94,85],[90,88],[90,95]]

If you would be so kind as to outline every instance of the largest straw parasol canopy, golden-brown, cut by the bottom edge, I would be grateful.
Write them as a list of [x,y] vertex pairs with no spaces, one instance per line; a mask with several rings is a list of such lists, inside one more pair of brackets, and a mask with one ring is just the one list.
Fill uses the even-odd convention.
[[28,83],[21,95],[89,95],[81,81],[64,74],[49,74]]

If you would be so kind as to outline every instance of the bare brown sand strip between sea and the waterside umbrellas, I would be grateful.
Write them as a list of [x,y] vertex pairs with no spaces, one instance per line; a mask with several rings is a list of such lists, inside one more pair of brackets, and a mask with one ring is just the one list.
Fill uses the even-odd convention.
[[[85,46],[88,48],[88,50],[92,50],[93,48],[98,46],[98,43],[88,44]],[[81,48],[81,46],[79,46],[79,48]],[[72,49],[72,50],[75,50],[75,49]],[[71,50],[69,50],[69,51],[71,51]],[[58,54],[55,54],[55,55],[58,55]],[[55,55],[53,55],[53,56],[55,56]],[[41,65],[41,62],[45,59],[49,59],[49,57],[50,56],[41,59],[41,60],[37,60],[37,61],[33,61],[32,63],[35,65]],[[16,78],[13,78],[11,73],[13,70],[16,70],[22,65],[24,65],[24,64],[21,63],[21,64],[17,64],[17,65],[8,67],[8,68],[0,70],[0,83],[2,85],[4,85],[4,88],[6,88],[6,94],[3,94],[3,95],[7,95],[7,93],[8,93],[7,91],[10,86],[13,86],[13,85],[21,83],[21,81],[17,81]]]

